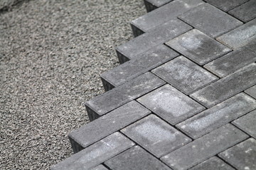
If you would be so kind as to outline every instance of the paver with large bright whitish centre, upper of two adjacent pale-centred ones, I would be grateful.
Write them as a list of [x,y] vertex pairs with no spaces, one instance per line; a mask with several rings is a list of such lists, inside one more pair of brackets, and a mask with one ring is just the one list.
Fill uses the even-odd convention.
[[205,109],[169,84],[138,98],[137,101],[171,125],[176,125]]

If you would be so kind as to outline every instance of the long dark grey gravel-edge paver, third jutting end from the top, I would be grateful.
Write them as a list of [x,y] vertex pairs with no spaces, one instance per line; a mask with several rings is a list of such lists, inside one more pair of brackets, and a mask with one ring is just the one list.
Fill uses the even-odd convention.
[[117,47],[117,56],[123,58],[132,58],[139,55],[142,52],[150,50],[156,45],[163,44],[164,42],[176,38],[176,36],[186,33],[191,30],[192,27],[184,23],[181,20],[174,19],[168,21],[157,29],[152,30],[149,33],[144,33],[137,38],[130,40]]

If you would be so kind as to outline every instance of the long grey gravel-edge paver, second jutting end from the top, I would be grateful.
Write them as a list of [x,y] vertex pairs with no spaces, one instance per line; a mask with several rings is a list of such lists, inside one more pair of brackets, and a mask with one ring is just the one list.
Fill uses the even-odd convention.
[[149,30],[168,22],[181,15],[181,13],[189,11],[191,8],[201,4],[204,4],[201,0],[174,0],[165,6],[161,6],[161,8],[135,19],[131,22],[131,25],[143,32],[149,32]]

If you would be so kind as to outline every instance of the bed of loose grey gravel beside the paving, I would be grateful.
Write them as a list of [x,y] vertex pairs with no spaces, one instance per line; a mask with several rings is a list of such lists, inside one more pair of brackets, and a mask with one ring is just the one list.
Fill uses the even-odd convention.
[[88,122],[83,103],[103,93],[100,74],[117,66],[114,48],[146,10],[138,0],[1,7],[0,169],[48,169],[72,154],[68,133]]

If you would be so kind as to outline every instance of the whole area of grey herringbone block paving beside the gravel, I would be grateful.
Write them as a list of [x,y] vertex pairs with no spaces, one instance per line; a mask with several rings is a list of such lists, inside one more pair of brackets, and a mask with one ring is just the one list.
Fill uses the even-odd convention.
[[255,170],[256,1],[145,5],[52,169]]

